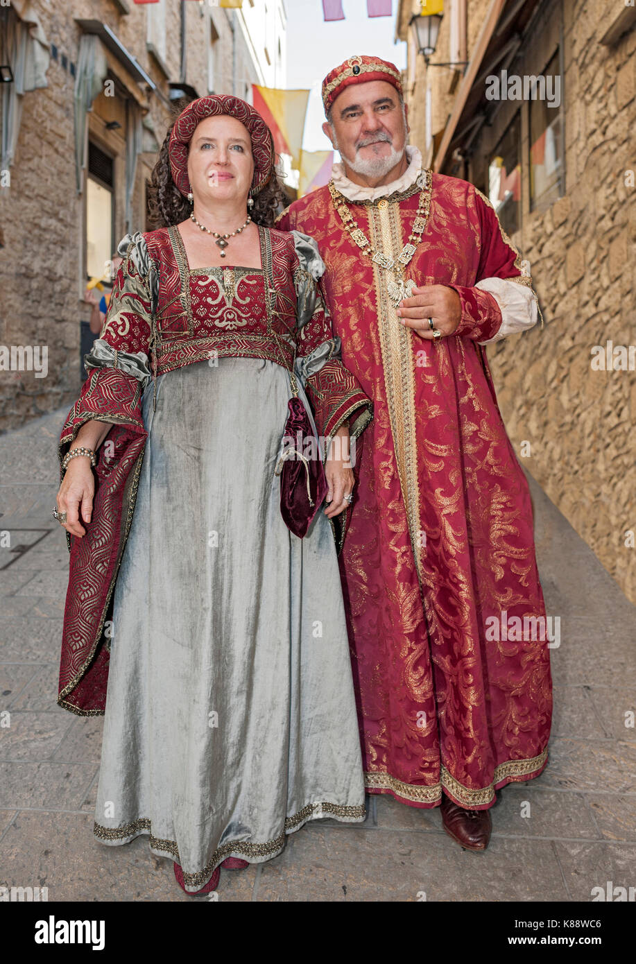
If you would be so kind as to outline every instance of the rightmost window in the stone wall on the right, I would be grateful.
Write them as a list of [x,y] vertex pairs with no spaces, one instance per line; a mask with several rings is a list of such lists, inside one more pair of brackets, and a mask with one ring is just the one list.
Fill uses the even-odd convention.
[[564,115],[558,50],[540,81],[530,101],[531,209],[556,201],[564,193]]

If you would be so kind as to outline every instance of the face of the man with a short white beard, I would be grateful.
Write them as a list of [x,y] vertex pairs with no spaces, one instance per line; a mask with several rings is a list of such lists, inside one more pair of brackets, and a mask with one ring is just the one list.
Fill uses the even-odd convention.
[[345,165],[358,174],[383,177],[404,156],[409,126],[400,96],[384,80],[352,84],[331,105],[323,130]]

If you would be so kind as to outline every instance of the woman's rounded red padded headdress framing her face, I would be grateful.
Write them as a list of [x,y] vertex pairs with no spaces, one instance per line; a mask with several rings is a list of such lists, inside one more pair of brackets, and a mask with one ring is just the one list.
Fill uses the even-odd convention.
[[272,132],[258,111],[240,97],[231,94],[211,94],[199,97],[185,107],[174,121],[168,145],[172,180],[183,195],[190,191],[188,178],[188,150],[192,136],[201,120],[225,114],[240,120],[247,127],[252,140],[254,175],[252,192],[258,194],[267,183],[274,168],[275,153]]

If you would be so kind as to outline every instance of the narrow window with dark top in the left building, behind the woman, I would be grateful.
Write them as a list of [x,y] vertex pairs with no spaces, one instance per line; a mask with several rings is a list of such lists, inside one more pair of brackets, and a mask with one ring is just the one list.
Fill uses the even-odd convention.
[[113,158],[90,141],[86,188],[86,271],[90,278],[104,278],[113,254],[113,174]]

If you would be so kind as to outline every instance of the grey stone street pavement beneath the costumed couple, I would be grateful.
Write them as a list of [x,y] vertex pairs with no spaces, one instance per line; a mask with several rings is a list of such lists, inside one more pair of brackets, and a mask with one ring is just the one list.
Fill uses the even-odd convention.
[[[0,884],[46,886],[49,900],[205,900],[180,891],[146,836],[93,838],[102,718],[55,702],[68,553],[51,508],[66,412],[0,436]],[[488,850],[455,844],[438,809],[374,796],[364,824],[315,821],[267,864],[222,871],[219,899],[568,901],[634,883],[636,609],[530,484],[547,612],[561,618],[550,761],[499,791]]]

